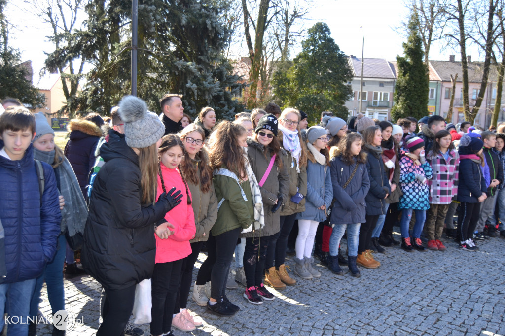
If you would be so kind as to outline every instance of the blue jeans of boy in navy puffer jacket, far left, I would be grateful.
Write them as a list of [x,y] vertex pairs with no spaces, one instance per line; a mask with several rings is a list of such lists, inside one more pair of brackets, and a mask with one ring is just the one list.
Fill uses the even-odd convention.
[[[12,284],[0,285],[0,330],[4,328],[4,313],[12,324],[9,324],[9,336],[26,336],[28,334],[28,314],[30,313],[30,299],[35,289],[35,279],[29,279]],[[6,301],[9,302],[6,307]],[[19,321],[23,322],[16,323]]]

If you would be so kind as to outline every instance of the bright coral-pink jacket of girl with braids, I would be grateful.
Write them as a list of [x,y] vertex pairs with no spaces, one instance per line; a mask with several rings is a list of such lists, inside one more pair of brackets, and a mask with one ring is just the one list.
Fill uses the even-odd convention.
[[[179,169],[169,169],[162,163],[161,172],[165,182],[165,189],[169,191],[172,187],[175,187],[177,190],[180,190],[182,200],[165,215],[165,219],[174,226],[174,229],[172,229],[174,234],[168,237],[168,239],[160,239],[155,234],[157,263],[179,260],[191,254],[189,241],[194,238],[196,232],[193,208],[187,203],[186,186],[182,181]],[[161,179],[158,176],[156,199],[162,193]],[[191,197],[189,189],[188,194]]]

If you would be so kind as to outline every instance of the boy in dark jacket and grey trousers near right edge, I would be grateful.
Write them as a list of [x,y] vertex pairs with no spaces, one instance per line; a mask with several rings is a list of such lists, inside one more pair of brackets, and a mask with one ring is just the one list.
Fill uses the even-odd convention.
[[[501,166],[500,159],[498,155],[492,150],[496,144],[496,134],[491,131],[484,131],[480,134],[482,141],[484,142],[484,148],[482,154],[484,155],[486,165],[489,167],[489,176],[491,183],[487,187],[486,195],[487,198],[482,202],[480,206],[480,216],[477,222],[477,227],[475,228],[474,240],[488,239],[488,234],[484,231],[484,226],[486,222],[494,213],[494,206],[496,203],[496,187],[503,183],[503,167]],[[494,216],[493,216],[494,217]],[[492,237],[494,235],[494,224],[491,225],[489,222],[489,232]]]

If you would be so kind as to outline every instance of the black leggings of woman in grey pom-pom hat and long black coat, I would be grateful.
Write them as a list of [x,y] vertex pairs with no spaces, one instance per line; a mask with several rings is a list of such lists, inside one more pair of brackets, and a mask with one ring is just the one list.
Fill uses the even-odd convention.
[[124,334],[135,300],[135,285],[122,290],[104,287],[104,321],[96,331],[98,336],[119,336]]

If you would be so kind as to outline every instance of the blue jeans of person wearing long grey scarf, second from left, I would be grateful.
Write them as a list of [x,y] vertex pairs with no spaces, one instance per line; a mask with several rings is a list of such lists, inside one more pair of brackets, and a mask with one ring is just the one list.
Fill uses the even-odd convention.
[[65,261],[65,252],[67,240],[65,235],[58,238],[58,249],[52,262],[45,265],[45,270],[36,279],[35,290],[30,302],[30,316],[37,316],[38,304],[40,303],[40,291],[47,284],[47,296],[53,314],[59,310],[65,309],[65,291],[63,289],[63,262]]

